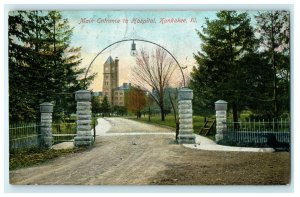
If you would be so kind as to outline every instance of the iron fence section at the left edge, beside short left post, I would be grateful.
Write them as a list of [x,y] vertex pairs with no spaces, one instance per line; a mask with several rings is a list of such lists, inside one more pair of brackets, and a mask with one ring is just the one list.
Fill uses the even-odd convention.
[[15,123],[9,125],[9,148],[38,147],[40,125],[37,123]]

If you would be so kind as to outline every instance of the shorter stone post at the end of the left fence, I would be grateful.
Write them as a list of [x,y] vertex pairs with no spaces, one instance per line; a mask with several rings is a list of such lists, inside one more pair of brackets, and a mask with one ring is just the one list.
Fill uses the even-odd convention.
[[40,145],[45,148],[51,148],[53,143],[52,137],[52,112],[53,104],[45,102],[40,104],[41,113],[41,141]]

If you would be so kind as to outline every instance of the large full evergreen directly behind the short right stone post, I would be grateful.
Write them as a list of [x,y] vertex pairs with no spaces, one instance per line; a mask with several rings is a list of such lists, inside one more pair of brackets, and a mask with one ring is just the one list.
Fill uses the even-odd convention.
[[[217,19],[206,19],[202,31],[197,31],[202,41],[201,51],[194,54],[198,63],[192,71],[190,82],[194,90],[194,105],[213,110],[214,102],[223,99],[238,121],[238,112],[249,99],[245,96],[251,88],[251,62],[256,40],[247,13],[220,11]],[[199,109],[198,109],[199,110]]]

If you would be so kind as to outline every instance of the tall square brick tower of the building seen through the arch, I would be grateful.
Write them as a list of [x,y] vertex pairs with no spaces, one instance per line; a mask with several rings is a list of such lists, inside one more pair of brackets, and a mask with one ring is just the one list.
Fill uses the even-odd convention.
[[119,84],[119,59],[116,57],[115,61],[111,56],[107,58],[103,66],[103,94],[111,105],[114,105],[113,91]]

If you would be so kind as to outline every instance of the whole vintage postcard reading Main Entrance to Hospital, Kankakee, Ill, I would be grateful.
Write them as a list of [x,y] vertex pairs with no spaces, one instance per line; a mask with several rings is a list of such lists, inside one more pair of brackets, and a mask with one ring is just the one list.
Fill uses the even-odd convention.
[[289,10],[11,10],[11,185],[289,185]]

